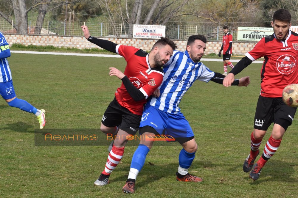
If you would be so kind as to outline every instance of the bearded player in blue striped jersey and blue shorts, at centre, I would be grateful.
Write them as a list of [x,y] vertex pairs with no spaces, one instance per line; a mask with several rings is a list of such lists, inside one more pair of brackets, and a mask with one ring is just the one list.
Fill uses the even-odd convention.
[[[179,142],[183,149],[179,154],[179,167],[176,179],[185,182],[201,182],[200,177],[190,175],[188,169],[195,158],[198,145],[190,124],[180,112],[179,103],[195,80],[204,82],[214,81],[222,84],[224,75],[209,70],[199,62],[206,49],[207,39],[203,35],[193,35],[188,38],[186,51],[174,51],[173,56],[164,65],[164,77],[159,86],[160,96],[150,97],[145,105],[139,133],[141,140],[134,152],[128,180],[122,191],[134,193],[136,177],[142,169],[145,158],[153,146],[153,140],[146,139],[154,135],[170,135]],[[247,86],[249,77],[236,79],[232,83],[238,86]]]

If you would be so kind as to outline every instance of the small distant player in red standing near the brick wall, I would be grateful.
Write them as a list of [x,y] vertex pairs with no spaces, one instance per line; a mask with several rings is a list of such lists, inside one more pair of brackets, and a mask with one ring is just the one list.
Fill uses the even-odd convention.
[[233,43],[233,36],[229,33],[228,26],[223,27],[224,30],[224,36],[223,36],[223,44],[221,45],[221,50],[218,53],[218,56],[221,57],[221,51],[224,50],[223,53],[223,60],[224,60],[224,75],[227,75],[228,72],[228,66],[232,69],[234,68],[233,63],[230,62],[230,58],[232,55],[232,43]]

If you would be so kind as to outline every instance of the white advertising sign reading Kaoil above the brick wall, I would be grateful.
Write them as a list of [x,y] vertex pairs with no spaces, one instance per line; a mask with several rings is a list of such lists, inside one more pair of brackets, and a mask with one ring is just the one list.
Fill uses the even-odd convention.
[[166,34],[166,26],[134,25],[133,38],[159,39]]

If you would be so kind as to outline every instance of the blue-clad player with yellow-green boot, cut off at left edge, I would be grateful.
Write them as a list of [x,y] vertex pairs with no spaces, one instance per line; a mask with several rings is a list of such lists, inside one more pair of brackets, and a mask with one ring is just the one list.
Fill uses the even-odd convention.
[[0,32],[0,49],[0,94],[2,98],[9,106],[35,114],[35,116],[37,116],[40,128],[43,129],[46,124],[45,110],[36,109],[30,103],[17,98],[15,95],[15,90],[13,88],[13,78],[11,76],[11,71],[7,61],[7,58],[10,57],[10,49],[2,32]]

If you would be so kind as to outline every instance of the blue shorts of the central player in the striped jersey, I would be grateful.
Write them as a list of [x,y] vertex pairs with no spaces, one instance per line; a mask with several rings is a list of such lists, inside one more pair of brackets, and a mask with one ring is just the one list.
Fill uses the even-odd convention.
[[170,114],[153,106],[145,106],[144,108],[139,131],[141,135],[146,132],[145,130],[141,130],[145,126],[154,128],[160,135],[170,135],[175,139],[194,136],[193,130],[182,113]]

